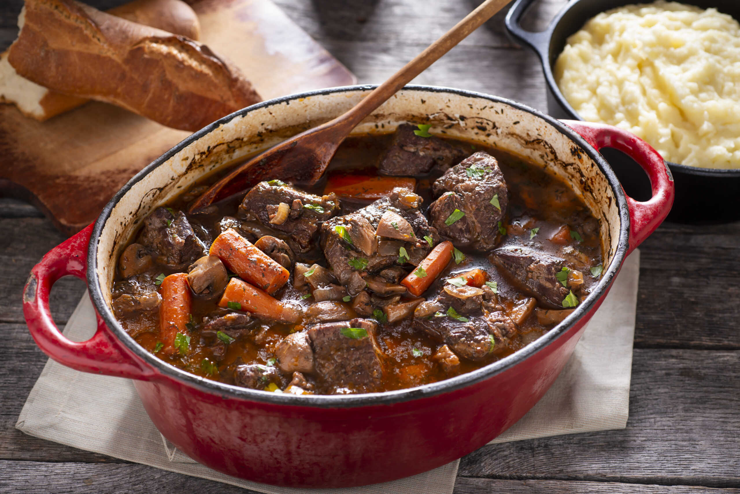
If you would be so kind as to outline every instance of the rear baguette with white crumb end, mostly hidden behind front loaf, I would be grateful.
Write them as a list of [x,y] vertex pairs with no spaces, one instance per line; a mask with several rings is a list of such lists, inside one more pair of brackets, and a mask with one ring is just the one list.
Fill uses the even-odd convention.
[[[181,0],[135,0],[108,10],[108,13],[169,33],[199,39],[201,23],[188,4]],[[21,113],[45,121],[90,101],[57,93],[19,76],[0,53],[0,103],[15,104]]]

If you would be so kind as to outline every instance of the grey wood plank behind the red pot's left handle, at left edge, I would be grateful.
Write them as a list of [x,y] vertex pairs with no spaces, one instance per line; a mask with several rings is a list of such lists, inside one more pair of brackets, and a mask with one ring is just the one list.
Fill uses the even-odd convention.
[[[65,240],[47,218],[0,218],[0,322],[22,323],[21,298],[31,268],[49,250]],[[51,313],[57,324],[72,315],[84,293],[77,278],[57,281],[50,296]]]

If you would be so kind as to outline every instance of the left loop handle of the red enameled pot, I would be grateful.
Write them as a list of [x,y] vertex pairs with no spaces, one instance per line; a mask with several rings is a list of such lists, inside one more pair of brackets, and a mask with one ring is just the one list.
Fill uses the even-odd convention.
[[31,270],[23,289],[23,315],[41,350],[62,365],[86,373],[148,380],[154,375],[146,364],[124,350],[95,310],[98,330],[87,341],[71,341],[61,334],[49,310],[52,285],[62,276],[87,278],[87,246],[92,224],[50,250]]

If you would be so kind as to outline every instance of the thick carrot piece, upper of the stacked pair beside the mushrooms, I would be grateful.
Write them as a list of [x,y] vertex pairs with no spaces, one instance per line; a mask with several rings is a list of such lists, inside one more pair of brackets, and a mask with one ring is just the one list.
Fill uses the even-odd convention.
[[209,254],[218,256],[229,270],[271,295],[290,278],[288,270],[232,228],[216,237]]

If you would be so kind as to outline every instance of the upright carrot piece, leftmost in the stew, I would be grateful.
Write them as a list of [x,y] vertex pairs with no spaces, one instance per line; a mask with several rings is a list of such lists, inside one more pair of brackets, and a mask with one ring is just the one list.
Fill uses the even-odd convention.
[[159,306],[159,339],[164,344],[161,352],[172,356],[180,353],[175,347],[175,336],[190,336],[186,324],[190,322],[192,298],[187,284],[187,273],[175,273],[162,281],[162,302]]

